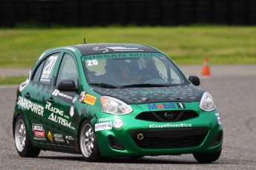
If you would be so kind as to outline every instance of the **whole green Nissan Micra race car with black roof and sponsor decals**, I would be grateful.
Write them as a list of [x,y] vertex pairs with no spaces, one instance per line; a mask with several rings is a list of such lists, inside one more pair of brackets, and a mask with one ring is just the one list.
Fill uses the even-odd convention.
[[220,112],[197,76],[140,44],[46,50],[17,89],[13,136],[22,157],[40,150],[104,157],[220,157]]

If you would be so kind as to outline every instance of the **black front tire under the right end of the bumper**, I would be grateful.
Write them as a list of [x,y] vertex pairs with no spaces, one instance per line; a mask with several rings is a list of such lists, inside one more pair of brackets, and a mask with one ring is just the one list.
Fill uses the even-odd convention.
[[219,159],[220,154],[221,154],[221,149],[219,152],[215,152],[215,153],[197,153],[193,155],[194,155],[194,158],[199,163],[211,163]]

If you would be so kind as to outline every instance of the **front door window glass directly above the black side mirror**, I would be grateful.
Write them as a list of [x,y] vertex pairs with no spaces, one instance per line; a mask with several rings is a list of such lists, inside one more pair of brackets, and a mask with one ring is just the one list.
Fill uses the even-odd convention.
[[62,59],[62,64],[59,68],[59,73],[56,81],[56,85],[62,81],[70,80],[75,82],[76,86],[78,84],[78,73],[76,69],[76,63],[73,57],[69,54],[65,54]]

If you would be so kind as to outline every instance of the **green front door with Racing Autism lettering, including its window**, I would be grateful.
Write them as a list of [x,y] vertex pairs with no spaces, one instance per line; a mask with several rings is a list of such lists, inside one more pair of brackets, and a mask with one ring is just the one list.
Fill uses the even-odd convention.
[[78,69],[76,60],[70,53],[62,54],[62,61],[59,64],[56,79],[53,82],[53,90],[50,94],[50,100],[45,105],[45,118],[50,125],[50,131],[47,139],[50,143],[76,146],[76,110],[74,103],[79,95],[76,92],[59,91],[58,85],[62,81],[73,81],[79,86]]

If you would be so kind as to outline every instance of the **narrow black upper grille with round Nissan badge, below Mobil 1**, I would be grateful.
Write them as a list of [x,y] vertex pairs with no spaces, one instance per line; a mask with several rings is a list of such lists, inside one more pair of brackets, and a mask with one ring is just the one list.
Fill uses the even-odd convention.
[[155,112],[141,112],[136,119],[148,120],[154,122],[175,122],[197,118],[197,112],[194,110],[171,110],[171,111],[155,111]]

